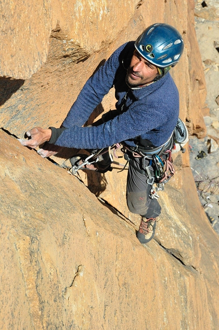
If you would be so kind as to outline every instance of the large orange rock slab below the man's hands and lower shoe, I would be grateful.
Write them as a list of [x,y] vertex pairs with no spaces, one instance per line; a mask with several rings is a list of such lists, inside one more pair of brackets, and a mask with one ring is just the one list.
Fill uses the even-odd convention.
[[188,169],[143,246],[74,176],[0,141],[2,329],[216,329],[219,239]]

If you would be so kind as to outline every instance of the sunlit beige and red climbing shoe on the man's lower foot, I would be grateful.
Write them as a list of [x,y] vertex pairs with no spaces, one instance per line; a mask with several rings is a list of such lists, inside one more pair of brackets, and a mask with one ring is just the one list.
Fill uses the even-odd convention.
[[142,221],[137,232],[137,238],[142,244],[148,243],[155,234],[156,218],[142,217]]

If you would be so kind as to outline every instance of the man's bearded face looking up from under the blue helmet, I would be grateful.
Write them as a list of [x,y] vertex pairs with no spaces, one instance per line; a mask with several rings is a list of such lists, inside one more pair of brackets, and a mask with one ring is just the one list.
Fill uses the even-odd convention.
[[131,88],[146,85],[153,81],[157,75],[157,67],[143,58],[135,49],[127,70],[127,85]]

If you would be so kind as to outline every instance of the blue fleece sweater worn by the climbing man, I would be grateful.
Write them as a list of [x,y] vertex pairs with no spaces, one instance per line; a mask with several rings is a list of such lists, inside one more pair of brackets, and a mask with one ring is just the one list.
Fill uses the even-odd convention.
[[[54,144],[100,149],[122,141],[135,146],[136,136],[149,140],[154,146],[160,146],[169,139],[179,115],[177,87],[167,73],[144,88],[129,89],[125,76],[133,50],[134,42],[119,47],[86,82],[63,122],[66,129],[61,131]],[[123,111],[100,126],[81,127],[113,87],[116,108],[120,112],[124,104]]]

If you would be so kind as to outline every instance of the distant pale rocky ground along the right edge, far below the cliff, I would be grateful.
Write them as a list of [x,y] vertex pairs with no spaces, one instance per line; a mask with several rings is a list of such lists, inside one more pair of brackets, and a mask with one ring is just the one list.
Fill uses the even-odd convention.
[[[190,167],[200,201],[219,234],[219,3],[196,0],[196,34],[207,85],[207,135],[190,138]],[[194,54],[195,55],[195,54]]]

